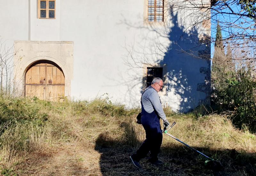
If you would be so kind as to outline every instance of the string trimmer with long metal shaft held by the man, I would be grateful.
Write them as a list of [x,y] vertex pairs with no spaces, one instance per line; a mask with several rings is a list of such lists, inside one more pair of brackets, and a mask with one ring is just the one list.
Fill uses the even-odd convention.
[[214,169],[214,170],[220,170],[223,166],[220,162],[214,161],[214,159],[210,158],[209,156],[204,155],[202,152],[199,152],[198,150],[196,150],[193,147],[190,147],[188,144],[186,144],[185,142],[182,142],[181,140],[177,139],[176,137],[172,136],[171,134],[168,133],[168,131],[176,124],[176,122],[173,122],[172,125],[166,129],[166,127],[164,127],[163,133],[167,134],[168,136],[171,136],[173,139],[178,140],[180,143],[184,144],[185,146],[187,146],[188,148],[196,151],[197,153],[203,155],[204,157],[206,157],[208,160],[206,160],[204,162],[204,165],[207,168],[210,169]]

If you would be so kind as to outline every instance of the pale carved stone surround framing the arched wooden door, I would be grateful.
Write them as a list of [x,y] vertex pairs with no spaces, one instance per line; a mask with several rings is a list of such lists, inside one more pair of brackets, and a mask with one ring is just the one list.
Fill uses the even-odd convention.
[[39,60],[56,63],[65,75],[65,96],[70,97],[73,78],[73,42],[15,41],[14,79],[15,89],[24,95],[24,78],[29,66]]

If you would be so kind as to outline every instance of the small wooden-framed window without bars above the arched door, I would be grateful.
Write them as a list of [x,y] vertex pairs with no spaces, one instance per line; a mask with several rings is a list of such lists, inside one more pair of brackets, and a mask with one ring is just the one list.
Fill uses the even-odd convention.
[[38,0],[38,17],[55,18],[55,0]]

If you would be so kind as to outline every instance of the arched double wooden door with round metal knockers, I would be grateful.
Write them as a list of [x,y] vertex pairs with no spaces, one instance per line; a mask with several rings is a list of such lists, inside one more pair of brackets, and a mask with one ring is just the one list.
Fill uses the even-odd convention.
[[65,77],[57,64],[41,60],[28,68],[24,89],[26,97],[59,101],[65,95]]

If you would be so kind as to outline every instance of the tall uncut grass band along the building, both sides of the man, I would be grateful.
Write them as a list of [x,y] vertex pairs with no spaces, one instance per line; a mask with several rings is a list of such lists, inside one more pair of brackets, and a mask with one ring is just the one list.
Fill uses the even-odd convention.
[[[94,149],[137,148],[145,138],[143,127],[135,123],[140,109],[107,100],[47,102],[28,99],[0,99],[0,166],[14,168],[40,147],[74,143]],[[170,122],[177,124],[171,133],[192,147],[209,151],[236,150],[256,153],[255,134],[246,126],[236,129],[227,116],[175,114],[164,109]],[[182,144],[164,135],[162,148],[168,152]]]

